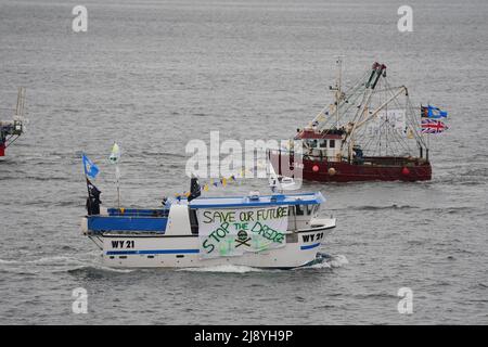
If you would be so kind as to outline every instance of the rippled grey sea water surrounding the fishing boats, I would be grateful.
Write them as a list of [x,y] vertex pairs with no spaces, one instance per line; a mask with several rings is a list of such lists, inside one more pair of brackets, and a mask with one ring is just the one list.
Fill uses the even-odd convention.
[[[88,9],[88,31],[72,9]],[[397,10],[413,8],[413,33]],[[0,1],[0,107],[27,87],[28,131],[0,163],[0,323],[486,324],[488,4],[478,1]],[[112,270],[80,234],[85,151],[114,204],[188,189],[191,139],[286,139],[374,61],[416,103],[449,112],[433,180],[306,183],[337,228],[323,265]],[[9,108],[9,110],[5,110]],[[244,180],[214,194],[266,192]],[[88,313],[72,291],[88,291]],[[413,313],[397,310],[400,287]]]

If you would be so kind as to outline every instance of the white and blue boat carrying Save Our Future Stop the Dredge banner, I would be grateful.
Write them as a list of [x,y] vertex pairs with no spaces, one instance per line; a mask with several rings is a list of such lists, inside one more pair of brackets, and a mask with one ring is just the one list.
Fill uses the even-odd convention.
[[183,198],[162,208],[101,208],[100,191],[88,180],[82,233],[103,261],[123,268],[183,268],[220,265],[290,269],[316,261],[335,228],[320,218],[320,192],[203,197],[196,179]]

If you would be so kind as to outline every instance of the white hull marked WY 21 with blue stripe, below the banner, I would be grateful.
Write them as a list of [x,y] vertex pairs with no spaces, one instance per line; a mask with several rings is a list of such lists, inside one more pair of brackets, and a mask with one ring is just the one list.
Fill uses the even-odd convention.
[[193,268],[221,265],[256,268],[297,268],[316,259],[324,236],[335,227],[317,220],[320,227],[291,232],[286,244],[242,256],[203,258],[197,235],[104,234],[90,237],[103,249],[104,265],[114,268]]

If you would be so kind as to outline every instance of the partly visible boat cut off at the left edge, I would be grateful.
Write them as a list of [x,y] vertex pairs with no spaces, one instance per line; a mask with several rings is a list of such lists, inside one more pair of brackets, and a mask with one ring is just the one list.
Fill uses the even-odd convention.
[[0,157],[5,155],[5,150],[18,137],[24,133],[24,104],[25,104],[25,88],[18,89],[17,106],[12,120],[0,120]]

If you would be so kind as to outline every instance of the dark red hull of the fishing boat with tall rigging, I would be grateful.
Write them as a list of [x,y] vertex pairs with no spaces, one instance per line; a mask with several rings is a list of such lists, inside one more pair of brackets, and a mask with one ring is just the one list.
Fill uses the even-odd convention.
[[[287,154],[271,153],[271,163],[279,175],[281,165],[291,164]],[[281,160],[280,160],[281,159]],[[358,182],[358,181],[428,181],[432,179],[431,163],[419,158],[375,157],[365,158],[369,164],[350,164],[347,162],[328,162],[303,159],[304,180],[320,182]],[[288,160],[288,162],[286,162]]]

